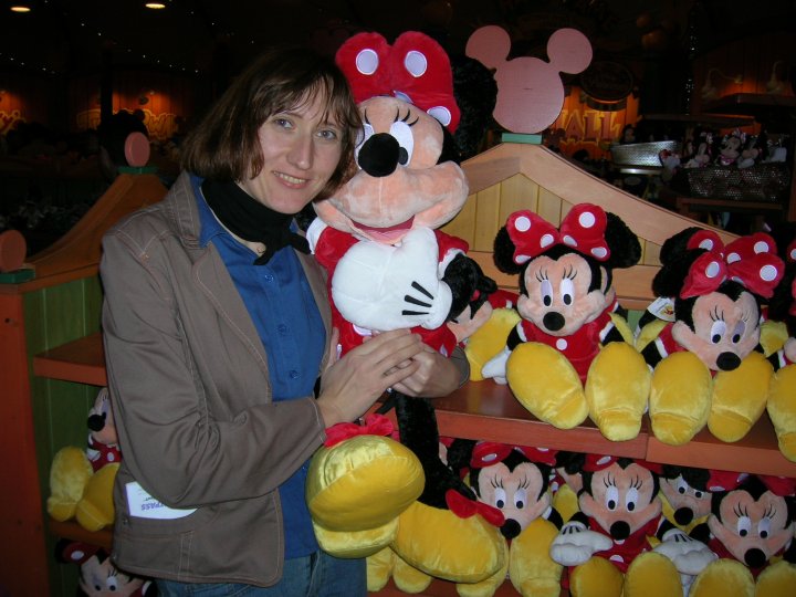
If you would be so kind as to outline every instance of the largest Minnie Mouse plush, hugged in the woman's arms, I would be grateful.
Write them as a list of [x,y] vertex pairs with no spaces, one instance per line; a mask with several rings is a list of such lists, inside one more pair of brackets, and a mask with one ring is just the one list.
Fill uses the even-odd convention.
[[[421,33],[404,33],[392,45],[378,33],[359,33],[336,61],[365,123],[359,169],[315,205],[318,218],[307,237],[328,271],[339,350],[379,331],[409,327],[449,356],[461,338],[448,323],[496,286],[465,255],[464,241],[438,230],[468,197],[454,160],[460,112],[448,56]],[[500,533],[473,515],[482,504],[441,460],[433,407],[399,392],[389,402],[415,462],[397,457],[389,438],[344,426],[357,434],[354,441],[320,450],[307,483],[322,547],[362,556],[389,546],[431,576],[464,583],[491,576],[503,564]]]

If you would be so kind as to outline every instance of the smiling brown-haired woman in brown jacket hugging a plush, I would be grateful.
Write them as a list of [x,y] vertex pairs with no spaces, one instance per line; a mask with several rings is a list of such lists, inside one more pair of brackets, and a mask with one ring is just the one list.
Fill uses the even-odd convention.
[[315,543],[307,460],[387,388],[442,396],[467,376],[406,329],[336,358],[293,216],[345,180],[359,127],[331,61],[271,51],[186,139],[166,198],[103,240],[113,557],[165,595],[364,595],[364,562]]

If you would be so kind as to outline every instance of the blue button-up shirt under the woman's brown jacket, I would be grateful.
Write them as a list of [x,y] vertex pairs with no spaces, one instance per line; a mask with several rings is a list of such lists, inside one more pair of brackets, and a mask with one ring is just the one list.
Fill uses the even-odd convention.
[[[202,247],[212,242],[249,310],[268,355],[274,400],[290,400],[313,392],[326,343],[323,321],[298,258],[293,249],[277,251],[265,265],[254,265],[255,254],[238,242],[216,219],[193,177],[199,207]],[[285,528],[285,558],[317,551],[304,498],[308,463],[280,488]]]

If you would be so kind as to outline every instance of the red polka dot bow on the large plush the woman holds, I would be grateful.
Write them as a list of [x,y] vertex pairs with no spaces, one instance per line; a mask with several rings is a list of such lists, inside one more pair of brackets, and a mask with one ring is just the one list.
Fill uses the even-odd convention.
[[413,104],[453,133],[460,112],[453,96],[453,73],[442,46],[417,31],[407,31],[392,45],[379,33],[357,33],[335,56],[357,103],[391,95]]

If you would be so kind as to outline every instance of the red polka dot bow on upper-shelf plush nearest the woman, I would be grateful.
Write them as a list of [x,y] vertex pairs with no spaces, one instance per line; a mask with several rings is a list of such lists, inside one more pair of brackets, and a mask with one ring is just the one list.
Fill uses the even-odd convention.
[[515,247],[514,263],[522,265],[555,244],[564,244],[597,261],[606,261],[610,256],[605,239],[607,223],[603,208],[591,203],[573,207],[558,229],[533,211],[515,211],[506,221],[509,238]]

